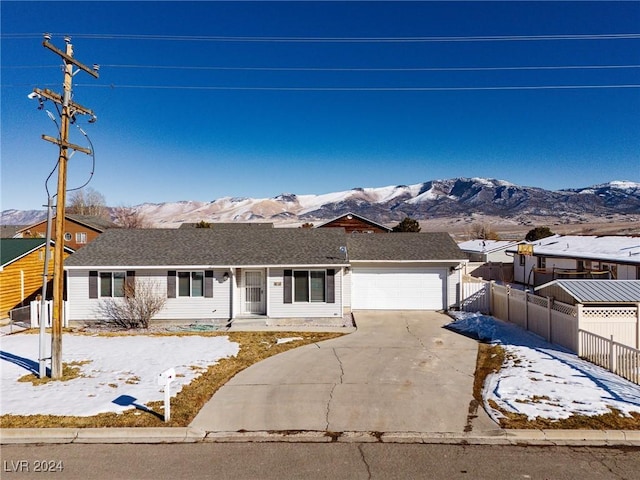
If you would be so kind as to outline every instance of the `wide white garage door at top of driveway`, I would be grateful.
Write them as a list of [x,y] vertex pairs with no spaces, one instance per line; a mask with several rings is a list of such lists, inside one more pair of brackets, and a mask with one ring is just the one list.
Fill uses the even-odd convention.
[[442,310],[442,268],[353,267],[351,304],[356,310]]

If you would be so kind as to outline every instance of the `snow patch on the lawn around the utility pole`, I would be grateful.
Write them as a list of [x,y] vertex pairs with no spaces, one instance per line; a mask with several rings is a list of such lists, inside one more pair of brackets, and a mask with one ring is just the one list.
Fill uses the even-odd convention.
[[[50,345],[50,337],[47,337]],[[183,385],[209,365],[235,356],[239,344],[228,337],[146,336],[117,337],[65,334],[63,363],[83,362],[82,377],[34,386],[17,380],[38,374],[39,336],[14,334],[0,337],[0,415],[91,416],[123,412],[164,399],[158,375],[174,368],[175,396]],[[87,363],[84,363],[87,362]]]

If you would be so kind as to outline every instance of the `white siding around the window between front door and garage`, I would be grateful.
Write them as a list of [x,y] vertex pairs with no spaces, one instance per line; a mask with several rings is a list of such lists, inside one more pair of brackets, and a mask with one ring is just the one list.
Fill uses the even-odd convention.
[[335,268],[335,303],[284,303],[284,268],[271,268],[267,277],[269,318],[342,317],[342,269]]

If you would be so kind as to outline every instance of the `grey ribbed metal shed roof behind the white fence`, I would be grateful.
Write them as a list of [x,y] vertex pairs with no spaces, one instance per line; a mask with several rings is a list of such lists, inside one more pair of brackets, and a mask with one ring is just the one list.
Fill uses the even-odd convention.
[[557,287],[578,303],[638,303],[640,280],[554,280],[535,290]]

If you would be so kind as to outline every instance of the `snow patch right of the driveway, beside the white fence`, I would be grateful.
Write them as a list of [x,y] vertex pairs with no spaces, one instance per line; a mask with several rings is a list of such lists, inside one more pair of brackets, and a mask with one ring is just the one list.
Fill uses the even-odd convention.
[[485,409],[498,421],[508,412],[552,420],[601,415],[612,408],[640,413],[640,386],[547,343],[521,328],[481,314],[455,312],[449,328],[502,346],[505,363],[484,385]]

